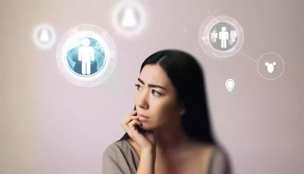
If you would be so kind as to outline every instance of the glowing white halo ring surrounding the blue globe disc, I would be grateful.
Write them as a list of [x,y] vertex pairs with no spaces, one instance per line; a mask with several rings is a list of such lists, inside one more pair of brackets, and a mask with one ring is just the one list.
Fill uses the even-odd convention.
[[[92,37],[97,40],[104,51],[102,68],[94,75],[82,76],[73,72],[67,64],[67,48],[71,41],[80,37]],[[82,87],[93,87],[107,80],[115,69],[117,50],[112,37],[102,28],[92,24],[81,24],[68,30],[60,39],[56,51],[57,66],[60,73],[71,83]]]

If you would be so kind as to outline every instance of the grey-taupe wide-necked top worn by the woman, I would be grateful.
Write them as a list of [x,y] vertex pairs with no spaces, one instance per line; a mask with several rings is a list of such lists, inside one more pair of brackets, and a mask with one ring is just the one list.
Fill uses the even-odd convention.
[[[102,174],[136,174],[139,157],[127,140],[110,144],[103,153]],[[225,155],[215,147],[207,174],[230,174]]]

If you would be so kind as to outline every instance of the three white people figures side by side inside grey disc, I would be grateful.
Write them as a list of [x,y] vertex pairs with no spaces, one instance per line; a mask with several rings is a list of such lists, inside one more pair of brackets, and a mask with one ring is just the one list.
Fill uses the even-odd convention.
[[[221,40],[221,47],[222,48],[227,48],[227,41],[229,41],[229,32],[226,31],[226,27],[221,28],[222,31],[219,33],[216,33],[216,29],[214,29],[211,33],[211,41],[216,42],[216,39],[219,38]],[[237,38],[237,32],[235,30],[230,31],[230,41],[229,44],[232,45]]]

